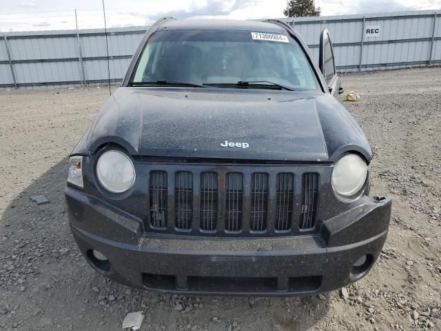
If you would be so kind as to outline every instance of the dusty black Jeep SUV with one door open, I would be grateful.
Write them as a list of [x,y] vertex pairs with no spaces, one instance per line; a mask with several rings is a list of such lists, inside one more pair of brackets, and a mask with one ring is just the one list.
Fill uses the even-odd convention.
[[372,151],[319,66],[280,21],[157,21],[121,88],[72,152],[65,189],[85,259],[135,288],[281,296],[369,272],[389,198]]

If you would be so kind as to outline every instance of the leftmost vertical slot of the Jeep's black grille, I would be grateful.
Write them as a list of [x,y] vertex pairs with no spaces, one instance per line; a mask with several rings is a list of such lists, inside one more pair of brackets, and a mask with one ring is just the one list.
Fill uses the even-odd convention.
[[167,172],[150,172],[150,224],[167,226]]

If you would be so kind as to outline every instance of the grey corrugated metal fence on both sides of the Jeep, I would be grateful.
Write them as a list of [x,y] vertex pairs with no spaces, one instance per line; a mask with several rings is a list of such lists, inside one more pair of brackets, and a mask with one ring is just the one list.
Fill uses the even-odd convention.
[[[441,63],[440,16],[441,10],[424,10],[283,21],[300,33],[316,60],[320,31],[328,28],[336,66],[341,72]],[[146,29],[146,26],[108,29],[112,81],[123,78]],[[0,32],[0,88],[67,86],[106,80],[103,29],[4,35]]]

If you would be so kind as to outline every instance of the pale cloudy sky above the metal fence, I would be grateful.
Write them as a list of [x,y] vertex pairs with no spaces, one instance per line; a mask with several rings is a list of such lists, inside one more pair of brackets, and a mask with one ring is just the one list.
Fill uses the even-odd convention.
[[[286,0],[105,0],[107,26],[145,26],[159,17],[263,19],[283,17]],[[441,9],[441,0],[316,0],[322,16]],[[0,31],[103,28],[101,0],[0,0]]]

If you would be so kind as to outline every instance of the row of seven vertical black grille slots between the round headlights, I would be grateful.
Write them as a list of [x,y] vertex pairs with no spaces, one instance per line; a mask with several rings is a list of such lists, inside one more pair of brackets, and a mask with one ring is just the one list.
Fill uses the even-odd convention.
[[[220,176],[216,171],[152,170],[147,223],[154,230],[206,234],[313,229],[318,173],[304,172],[300,181],[294,181],[296,174],[291,172],[274,176],[275,183],[270,184],[267,172],[232,171]],[[294,190],[295,183],[301,185],[300,190]]]

